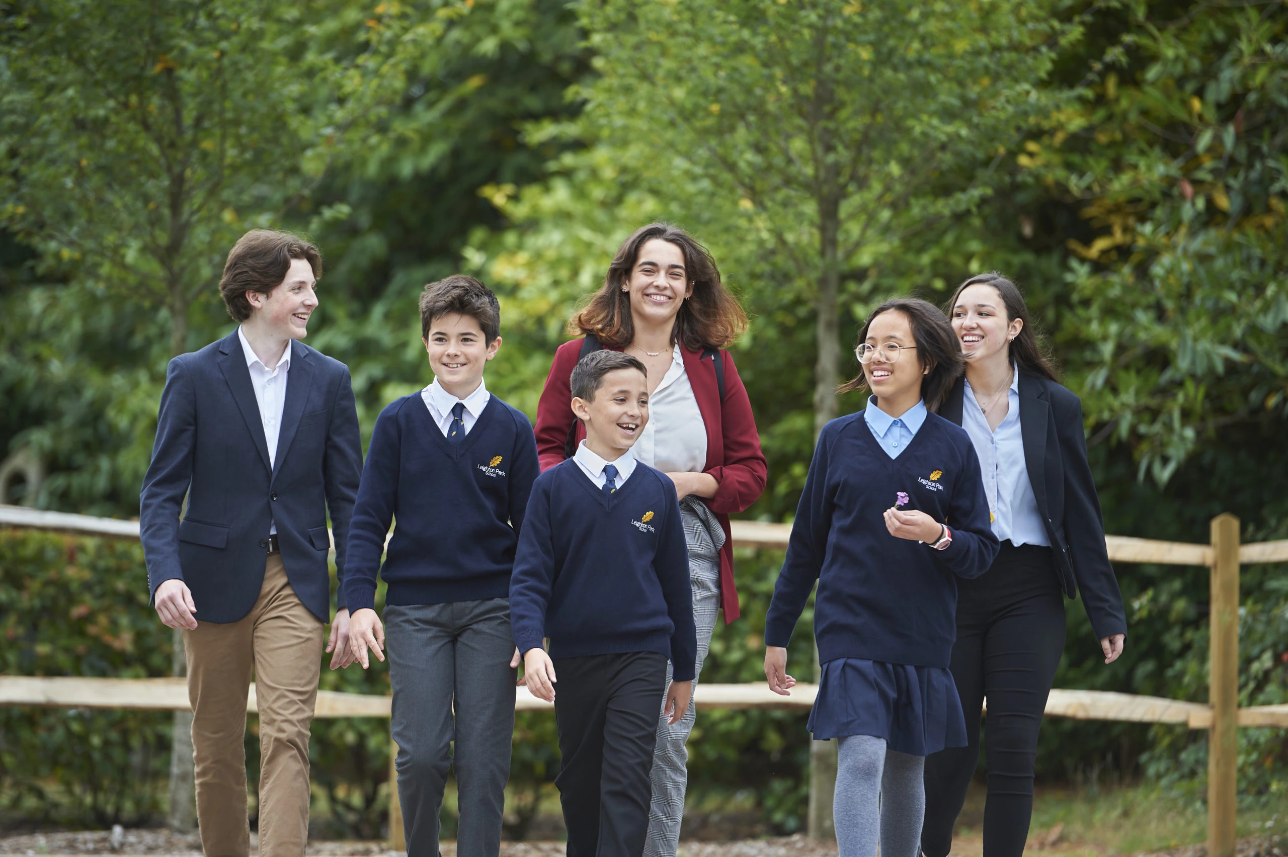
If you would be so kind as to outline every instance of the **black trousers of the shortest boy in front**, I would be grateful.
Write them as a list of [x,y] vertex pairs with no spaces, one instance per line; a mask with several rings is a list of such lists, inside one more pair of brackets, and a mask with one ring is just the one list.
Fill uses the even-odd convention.
[[568,857],[640,857],[666,655],[559,658],[554,667]]

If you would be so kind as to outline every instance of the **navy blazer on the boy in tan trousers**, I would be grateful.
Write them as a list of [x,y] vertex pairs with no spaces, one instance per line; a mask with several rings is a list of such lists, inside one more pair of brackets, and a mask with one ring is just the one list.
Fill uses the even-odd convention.
[[[274,521],[291,587],[318,619],[330,620],[327,511],[343,582],[362,439],[349,368],[299,341],[291,342],[274,461],[269,468],[237,331],[170,360],[139,497],[153,597],[157,585],[178,578],[192,591],[198,622],[245,618],[264,583]],[[184,494],[188,508],[180,521]]]

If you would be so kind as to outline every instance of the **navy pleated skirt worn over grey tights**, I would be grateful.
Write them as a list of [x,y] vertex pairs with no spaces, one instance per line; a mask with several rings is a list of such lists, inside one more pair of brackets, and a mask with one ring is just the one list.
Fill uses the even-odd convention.
[[909,755],[966,746],[962,703],[947,669],[837,658],[822,672],[809,714],[814,740],[871,735]]

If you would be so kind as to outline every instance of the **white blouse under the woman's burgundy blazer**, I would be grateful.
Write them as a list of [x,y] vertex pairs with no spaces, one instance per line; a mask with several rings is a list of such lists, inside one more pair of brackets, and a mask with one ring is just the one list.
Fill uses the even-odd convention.
[[663,474],[701,474],[707,467],[707,425],[679,345],[672,350],[662,383],[649,396],[648,425],[631,452]]

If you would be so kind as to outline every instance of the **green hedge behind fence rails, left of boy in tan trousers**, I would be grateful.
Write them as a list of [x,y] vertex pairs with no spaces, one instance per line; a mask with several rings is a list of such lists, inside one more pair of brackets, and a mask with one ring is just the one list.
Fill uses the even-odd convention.
[[[170,673],[170,632],[148,609],[138,544],[0,533],[0,673]],[[149,620],[151,619],[151,620]],[[0,708],[6,812],[61,824],[144,824],[170,759],[165,712]]]

